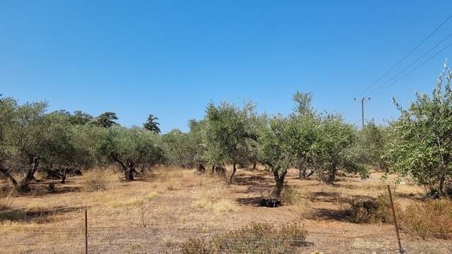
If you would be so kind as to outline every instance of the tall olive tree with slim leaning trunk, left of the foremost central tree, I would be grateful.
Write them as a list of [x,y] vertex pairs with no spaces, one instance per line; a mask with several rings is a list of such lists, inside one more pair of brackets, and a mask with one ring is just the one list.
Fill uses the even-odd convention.
[[249,160],[250,150],[256,142],[251,119],[256,116],[253,103],[239,108],[222,102],[218,107],[210,103],[206,109],[205,157],[212,164],[232,164],[232,183],[237,164]]

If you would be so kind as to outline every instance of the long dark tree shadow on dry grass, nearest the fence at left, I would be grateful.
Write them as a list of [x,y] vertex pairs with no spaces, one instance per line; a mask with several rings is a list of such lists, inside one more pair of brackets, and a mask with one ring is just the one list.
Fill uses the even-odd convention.
[[78,212],[83,209],[85,209],[85,207],[52,207],[46,209],[40,209],[40,207],[37,207],[34,209],[5,209],[3,211],[0,211],[0,222],[42,222],[48,219],[50,216],[65,214],[68,212]]

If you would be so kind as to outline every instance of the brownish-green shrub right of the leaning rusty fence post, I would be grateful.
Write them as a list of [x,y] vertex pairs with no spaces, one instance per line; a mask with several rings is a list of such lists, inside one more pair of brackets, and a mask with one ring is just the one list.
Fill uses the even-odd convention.
[[452,200],[429,200],[409,205],[400,214],[403,230],[422,238],[452,238]]

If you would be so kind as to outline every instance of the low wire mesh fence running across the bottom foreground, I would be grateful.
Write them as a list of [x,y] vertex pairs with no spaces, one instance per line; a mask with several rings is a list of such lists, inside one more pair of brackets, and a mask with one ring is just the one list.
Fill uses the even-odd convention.
[[[0,226],[0,253],[398,253],[394,235],[345,236],[310,232],[306,238],[284,241],[224,239],[215,248],[210,240],[230,236],[226,230],[160,229],[153,227],[38,228]],[[407,234],[407,253],[452,253],[452,241],[422,240]],[[88,243],[88,245],[85,245]]]

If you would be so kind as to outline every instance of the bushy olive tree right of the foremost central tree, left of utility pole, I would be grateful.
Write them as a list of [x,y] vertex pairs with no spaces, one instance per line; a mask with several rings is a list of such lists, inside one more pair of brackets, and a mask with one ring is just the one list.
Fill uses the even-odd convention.
[[339,170],[360,174],[363,178],[369,175],[367,169],[357,163],[357,155],[353,150],[357,140],[355,126],[343,121],[340,114],[322,116],[319,138],[314,143],[316,153],[316,173],[327,184],[333,184]]

